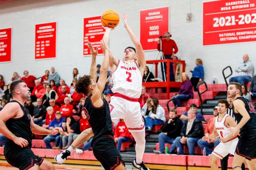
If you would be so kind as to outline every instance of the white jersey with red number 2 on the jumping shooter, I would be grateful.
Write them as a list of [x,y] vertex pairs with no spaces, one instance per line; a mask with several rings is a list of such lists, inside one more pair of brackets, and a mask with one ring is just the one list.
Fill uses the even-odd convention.
[[127,63],[118,60],[116,70],[112,73],[113,78],[113,93],[120,93],[132,98],[140,98],[142,75],[139,69],[139,64],[134,61]]

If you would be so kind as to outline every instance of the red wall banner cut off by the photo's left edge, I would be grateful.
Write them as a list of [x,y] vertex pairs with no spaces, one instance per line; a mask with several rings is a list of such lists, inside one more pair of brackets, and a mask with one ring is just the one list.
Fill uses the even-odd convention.
[[12,28],[0,29],[0,62],[12,61]]

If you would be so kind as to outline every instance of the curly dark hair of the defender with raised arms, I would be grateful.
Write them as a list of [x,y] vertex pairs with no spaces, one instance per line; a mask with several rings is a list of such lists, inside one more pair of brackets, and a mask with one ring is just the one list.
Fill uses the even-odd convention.
[[89,75],[84,75],[83,77],[79,78],[75,85],[75,91],[77,93],[83,93],[85,96],[87,96],[89,92],[89,85],[92,85],[91,79],[92,77]]

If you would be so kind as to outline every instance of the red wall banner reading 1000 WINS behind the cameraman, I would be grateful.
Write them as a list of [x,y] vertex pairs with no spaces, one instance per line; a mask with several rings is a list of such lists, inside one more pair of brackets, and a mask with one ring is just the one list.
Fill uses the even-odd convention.
[[143,50],[156,50],[160,35],[169,31],[169,7],[140,10],[140,43]]

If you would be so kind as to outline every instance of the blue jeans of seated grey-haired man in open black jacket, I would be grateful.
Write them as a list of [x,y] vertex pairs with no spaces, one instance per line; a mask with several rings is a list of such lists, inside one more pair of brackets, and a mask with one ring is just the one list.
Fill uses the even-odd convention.
[[[181,137],[176,137],[175,144],[176,144],[176,148],[178,148],[178,147],[180,148],[180,155],[184,155],[184,152],[183,152],[183,145],[184,144],[180,143],[180,139],[181,139]],[[195,155],[195,145],[197,145],[197,141],[199,139],[200,138],[197,138],[197,137],[196,138],[188,137],[186,145],[188,145],[189,155]]]

